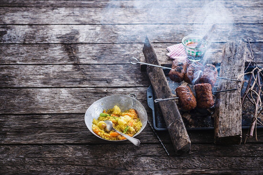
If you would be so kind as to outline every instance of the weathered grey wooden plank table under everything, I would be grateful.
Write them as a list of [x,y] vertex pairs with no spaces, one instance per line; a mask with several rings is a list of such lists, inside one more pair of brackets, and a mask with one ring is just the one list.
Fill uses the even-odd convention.
[[[84,123],[94,101],[129,93],[152,122],[148,76],[128,59],[140,57],[146,34],[165,54],[166,46],[202,30],[204,12],[192,12],[209,2],[1,0],[0,174],[262,174],[262,129],[258,141],[236,146],[214,145],[213,130],[188,131],[191,151],[182,156],[175,156],[168,132],[158,132],[167,156],[148,125],[136,147],[105,142]],[[205,7],[220,3],[225,8],[212,17],[228,16],[221,16],[211,60],[220,62],[225,42],[249,38],[263,65],[263,1]]]

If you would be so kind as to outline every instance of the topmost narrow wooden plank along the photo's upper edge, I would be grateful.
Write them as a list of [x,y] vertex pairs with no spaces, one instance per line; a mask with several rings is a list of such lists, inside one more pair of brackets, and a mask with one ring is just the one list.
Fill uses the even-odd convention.
[[204,5],[209,4],[211,7],[215,7],[216,4],[222,3],[225,7],[262,7],[262,1],[251,0],[249,2],[244,0],[235,0],[235,1],[212,1],[212,0],[185,0],[185,1],[173,1],[170,0],[135,0],[135,1],[107,1],[107,0],[97,0],[97,1],[58,1],[58,0],[49,0],[49,1],[19,1],[19,0],[9,0],[9,1],[0,1],[0,7],[137,7],[137,8],[146,8],[146,7],[203,7]]

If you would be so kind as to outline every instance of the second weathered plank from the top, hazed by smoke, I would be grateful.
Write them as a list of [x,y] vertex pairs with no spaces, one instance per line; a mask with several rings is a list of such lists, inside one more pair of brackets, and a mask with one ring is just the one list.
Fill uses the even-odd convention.
[[[219,5],[222,5],[219,4]],[[154,13],[151,13],[154,10]],[[234,13],[232,13],[234,11]],[[176,18],[175,13],[176,12]],[[0,24],[261,24],[261,7],[0,8]],[[205,14],[205,16],[204,16]],[[218,20],[215,17],[226,17]],[[148,18],[144,18],[148,16]],[[206,29],[204,29],[206,30]]]

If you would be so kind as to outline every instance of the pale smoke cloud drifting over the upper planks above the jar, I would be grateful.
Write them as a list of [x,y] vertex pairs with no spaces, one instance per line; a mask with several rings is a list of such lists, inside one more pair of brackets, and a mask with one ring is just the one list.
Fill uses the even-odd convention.
[[214,42],[207,51],[211,53],[211,48],[218,47],[217,41],[230,36],[234,26],[234,16],[224,3],[211,0],[109,1],[98,23],[107,24],[101,32],[108,29],[118,35],[113,37],[116,43],[143,43],[146,34],[153,43],[180,43],[186,35],[204,35],[211,24],[216,23],[218,27],[209,36]]

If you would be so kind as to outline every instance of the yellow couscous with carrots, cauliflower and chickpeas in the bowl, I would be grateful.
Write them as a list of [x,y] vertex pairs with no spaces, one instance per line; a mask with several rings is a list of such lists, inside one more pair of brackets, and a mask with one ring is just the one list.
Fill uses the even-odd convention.
[[103,110],[98,120],[93,119],[92,121],[92,130],[106,140],[124,140],[126,138],[112,130],[105,131],[105,120],[111,120],[114,129],[131,137],[142,127],[142,123],[134,109],[121,112],[120,108],[115,105],[112,109]]

